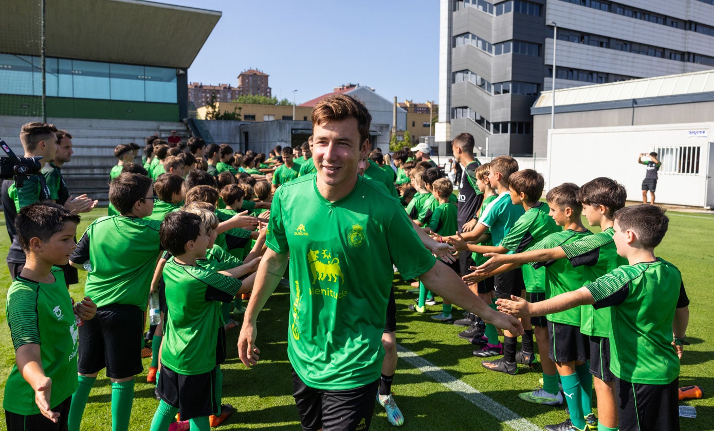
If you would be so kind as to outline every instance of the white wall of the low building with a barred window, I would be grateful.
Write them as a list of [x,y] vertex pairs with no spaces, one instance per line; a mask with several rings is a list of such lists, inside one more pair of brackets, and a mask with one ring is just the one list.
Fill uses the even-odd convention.
[[[694,131],[704,133],[690,134]],[[714,205],[714,182],[708,178],[712,142],[714,123],[555,129],[549,132],[549,166],[545,170],[550,172],[551,187],[563,182],[582,185],[595,177],[610,177],[625,186],[628,200],[639,201],[645,166],[637,163],[638,154],[655,147],[700,146],[698,174],[666,172],[677,169],[665,169],[663,165],[655,202],[710,207]]]

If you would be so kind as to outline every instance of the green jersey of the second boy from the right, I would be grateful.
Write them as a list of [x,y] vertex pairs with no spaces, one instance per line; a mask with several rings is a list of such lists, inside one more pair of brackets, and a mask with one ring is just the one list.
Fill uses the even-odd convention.
[[[603,232],[560,247],[573,267],[583,266],[583,284],[593,282],[620,265],[628,263],[627,259],[618,255],[613,234],[615,229],[608,227]],[[588,305],[581,307],[580,332],[589,336],[608,337],[610,312],[606,309],[596,310]]]

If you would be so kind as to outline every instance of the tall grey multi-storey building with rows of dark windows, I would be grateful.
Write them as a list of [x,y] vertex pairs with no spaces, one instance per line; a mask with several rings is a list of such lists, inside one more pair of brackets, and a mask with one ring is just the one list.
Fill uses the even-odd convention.
[[436,142],[469,132],[489,155],[532,154],[530,108],[552,89],[555,26],[556,89],[711,69],[712,3],[441,0]]

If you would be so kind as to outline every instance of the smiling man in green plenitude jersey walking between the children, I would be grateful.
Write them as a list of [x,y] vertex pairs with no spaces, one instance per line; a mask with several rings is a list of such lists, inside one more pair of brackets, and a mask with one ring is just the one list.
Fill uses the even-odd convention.
[[522,332],[515,319],[488,309],[423,247],[405,212],[381,186],[357,175],[366,157],[371,115],[345,94],[313,109],[316,176],[278,189],[268,224],[268,250],[258,267],[238,339],[255,365],[256,318],[276,288],[290,254],[288,357],[293,396],[304,430],[366,430],[380,378],[393,264],[403,277],[486,321]]

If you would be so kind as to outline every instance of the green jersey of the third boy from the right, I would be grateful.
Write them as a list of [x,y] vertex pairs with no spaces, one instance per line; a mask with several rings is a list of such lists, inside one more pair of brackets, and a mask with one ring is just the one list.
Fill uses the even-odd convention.
[[[592,234],[593,232],[590,232],[589,230],[586,230],[585,232],[563,230],[548,235],[533,244],[533,247],[529,247],[528,249],[536,250],[562,247],[565,244],[570,244],[571,242],[578,241],[579,239]],[[525,268],[526,266],[545,268],[546,298],[552,298],[561,293],[580,289],[580,287],[583,287],[585,284],[583,283],[583,266],[580,265],[579,267],[573,267],[573,264],[570,264],[568,259],[550,260],[548,262],[533,262],[530,265],[524,265],[523,267]],[[574,307],[566,309],[563,312],[548,314],[547,317],[550,322],[579,327],[580,309],[581,307]]]

